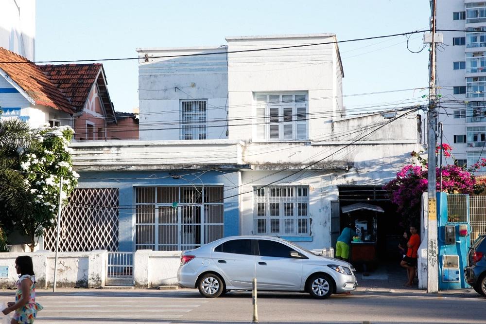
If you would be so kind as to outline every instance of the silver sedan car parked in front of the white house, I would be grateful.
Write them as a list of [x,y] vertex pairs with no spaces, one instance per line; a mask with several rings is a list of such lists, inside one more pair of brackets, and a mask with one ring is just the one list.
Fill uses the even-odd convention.
[[229,290],[309,292],[314,298],[356,289],[351,264],[307,251],[271,236],[230,236],[183,252],[177,271],[182,287],[208,298]]

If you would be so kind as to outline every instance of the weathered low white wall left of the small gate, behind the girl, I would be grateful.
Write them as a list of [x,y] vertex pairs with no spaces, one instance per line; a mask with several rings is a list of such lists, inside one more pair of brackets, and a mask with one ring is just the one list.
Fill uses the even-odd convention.
[[[106,278],[106,250],[57,253],[56,287],[99,287]],[[0,253],[0,267],[8,267],[8,274],[0,278],[0,288],[13,288],[18,279],[15,259],[29,255],[34,264],[37,288],[50,288],[54,281],[55,253],[50,251]]]

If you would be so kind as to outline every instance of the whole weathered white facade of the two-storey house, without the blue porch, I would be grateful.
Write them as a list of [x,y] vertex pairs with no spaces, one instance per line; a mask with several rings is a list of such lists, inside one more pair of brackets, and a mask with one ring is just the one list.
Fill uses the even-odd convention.
[[[129,170],[174,169],[191,162],[192,168],[203,167],[208,156],[215,164],[236,163],[245,166],[237,184],[240,234],[261,234],[256,187],[303,186],[309,190],[310,224],[305,233],[294,230],[286,238],[310,249],[330,247],[330,206],[338,199],[338,186],[382,186],[393,179],[410,162],[410,152],[422,148],[416,113],[390,125],[384,125],[390,120],[381,115],[347,117],[342,102],[344,70],[334,34],[240,36],[226,41],[227,55],[225,47],[137,49],[140,139],[159,142],[150,154],[132,145],[109,148],[106,157],[101,147],[80,144],[74,146],[75,168],[114,170],[129,163],[123,162],[123,154],[131,150],[139,151],[140,162],[127,165]],[[260,51],[269,48],[273,49]],[[191,54],[209,55],[184,56]],[[208,101],[208,140],[227,138],[233,146],[180,141],[181,102],[202,99]],[[222,136],[223,107],[227,137]],[[383,128],[376,129],[380,125]],[[372,134],[366,136],[368,132]],[[185,152],[180,154],[184,158],[178,151]],[[167,159],[157,160],[162,156],[158,154]],[[120,165],[108,166],[113,163],[104,159]],[[87,166],[88,161],[95,163]]]

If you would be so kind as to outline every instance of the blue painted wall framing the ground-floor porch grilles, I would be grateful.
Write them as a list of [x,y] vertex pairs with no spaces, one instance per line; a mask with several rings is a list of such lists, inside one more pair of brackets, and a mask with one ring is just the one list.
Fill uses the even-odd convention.
[[[239,171],[107,171],[83,172],[78,188],[119,188],[119,251],[135,250],[135,186],[157,185],[224,185],[225,226],[224,235],[240,234],[238,186]],[[181,176],[173,179],[171,175]],[[88,179],[91,178],[91,179]]]

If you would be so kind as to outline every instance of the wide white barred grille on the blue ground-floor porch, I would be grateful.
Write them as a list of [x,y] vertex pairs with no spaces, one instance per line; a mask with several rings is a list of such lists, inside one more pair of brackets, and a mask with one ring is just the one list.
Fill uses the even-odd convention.
[[222,186],[137,187],[135,248],[195,249],[224,237]]

